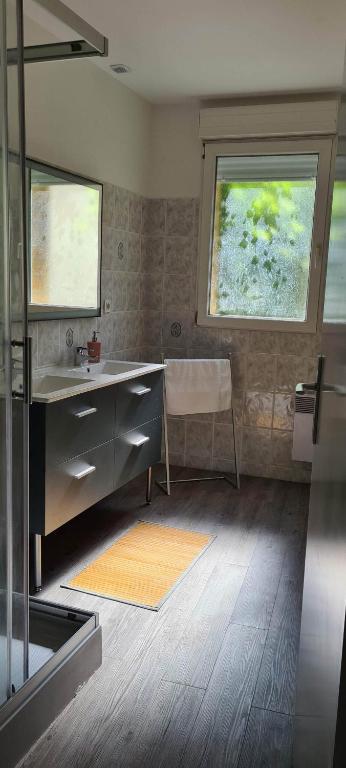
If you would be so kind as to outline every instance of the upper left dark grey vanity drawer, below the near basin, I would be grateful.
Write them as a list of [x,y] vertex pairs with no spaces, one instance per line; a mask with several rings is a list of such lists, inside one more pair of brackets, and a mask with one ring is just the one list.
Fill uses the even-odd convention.
[[66,461],[114,437],[115,387],[104,387],[46,406],[48,463]]

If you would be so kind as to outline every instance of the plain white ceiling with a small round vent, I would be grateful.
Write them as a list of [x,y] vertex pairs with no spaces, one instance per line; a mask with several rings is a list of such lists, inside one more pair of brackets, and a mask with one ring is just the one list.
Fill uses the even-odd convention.
[[345,0],[64,2],[109,38],[96,65],[129,65],[118,79],[153,103],[342,85]]

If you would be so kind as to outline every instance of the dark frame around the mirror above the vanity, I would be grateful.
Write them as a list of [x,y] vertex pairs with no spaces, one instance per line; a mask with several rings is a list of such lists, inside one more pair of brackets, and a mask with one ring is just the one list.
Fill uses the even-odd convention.
[[[59,307],[53,305],[37,305],[31,304],[31,170],[35,169],[42,171],[42,173],[52,173],[71,181],[74,184],[80,184],[81,186],[93,187],[100,192],[100,209],[99,209],[99,248],[98,248],[98,265],[97,265],[97,307],[92,309],[86,309],[85,307]],[[81,176],[80,174],[71,173],[64,168],[59,168],[55,165],[49,165],[41,160],[35,160],[34,158],[26,158],[26,176],[27,176],[27,208],[28,208],[28,318],[30,321],[36,320],[64,320],[73,317],[101,317],[101,267],[102,267],[102,206],[103,206],[103,184],[94,179],[90,179],[87,176]]]

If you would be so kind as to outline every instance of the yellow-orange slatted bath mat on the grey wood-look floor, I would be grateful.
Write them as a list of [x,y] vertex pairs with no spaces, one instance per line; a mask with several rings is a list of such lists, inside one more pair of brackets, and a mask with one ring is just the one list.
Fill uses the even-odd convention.
[[213,539],[138,522],[66,586],[157,611]]

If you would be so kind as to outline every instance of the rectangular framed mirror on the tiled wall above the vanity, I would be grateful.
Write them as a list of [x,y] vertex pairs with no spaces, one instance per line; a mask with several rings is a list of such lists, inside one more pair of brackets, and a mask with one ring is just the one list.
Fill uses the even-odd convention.
[[102,185],[27,160],[29,319],[100,315]]

